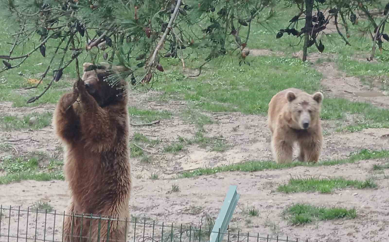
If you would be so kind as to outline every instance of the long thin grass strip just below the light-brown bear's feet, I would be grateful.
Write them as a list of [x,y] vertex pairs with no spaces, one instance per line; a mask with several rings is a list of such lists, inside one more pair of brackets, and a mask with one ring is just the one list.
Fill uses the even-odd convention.
[[334,166],[338,164],[345,163],[354,163],[356,161],[368,160],[368,159],[378,159],[378,158],[386,158],[389,157],[389,150],[368,150],[363,149],[357,153],[351,153],[347,159],[339,159],[339,160],[329,160],[329,161],[321,161],[317,164],[314,163],[303,163],[303,162],[292,162],[287,164],[277,164],[273,161],[247,161],[241,162],[237,164],[230,164],[225,166],[217,166],[213,168],[198,168],[193,171],[187,171],[180,174],[179,178],[189,178],[196,177],[202,175],[211,175],[218,172],[225,171],[263,171],[268,169],[287,169],[296,166]]

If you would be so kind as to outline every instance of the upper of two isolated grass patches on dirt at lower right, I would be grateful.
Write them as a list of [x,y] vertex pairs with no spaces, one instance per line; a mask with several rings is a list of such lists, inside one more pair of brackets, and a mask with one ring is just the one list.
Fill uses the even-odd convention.
[[320,192],[331,193],[335,188],[354,187],[357,189],[375,188],[375,184],[371,179],[365,181],[347,180],[344,178],[291,178],[287,184],[279,185],[278,192],[294,193],[294,192]]

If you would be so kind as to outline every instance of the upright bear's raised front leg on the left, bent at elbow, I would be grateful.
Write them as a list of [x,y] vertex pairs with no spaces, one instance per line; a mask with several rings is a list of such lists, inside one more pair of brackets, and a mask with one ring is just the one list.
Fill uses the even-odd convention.
[[54,131],[67,142],[73,142],[79,137],[79,117],[73,107],[78,95],[76,88],[73,92],[63,94],[54,110]]

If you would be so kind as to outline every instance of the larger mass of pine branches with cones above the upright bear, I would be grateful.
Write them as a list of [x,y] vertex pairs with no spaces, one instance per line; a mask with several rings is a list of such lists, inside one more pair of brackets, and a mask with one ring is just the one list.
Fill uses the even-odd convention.
[[[11,50],[0,56],[4,64],[1,71],[21,66],[39,50],[50,58],[40,82],[54,69],[47,89],[74,62],[79,75],[78,61],[85,52],[93,64],[104,59],[111,65],[128,67],[126,75],[132,85],[149,83],[156,70],[164,71],[159,64],[162,58],[179,58],[184,63],[189,56],[207,53],[208,62],[238,50],[239,64],[249,64],[245,62],[249,53],[244,48],[250,31],[242,36],[241,30],[273,14],[271,10],[264,11],[272,0],[0,1],[2,16],[12,19],[18,28]],[[14,54],[15,46],[29,42],[34,43],[33,49]],[[46,55],[49,48],[50,54]]]

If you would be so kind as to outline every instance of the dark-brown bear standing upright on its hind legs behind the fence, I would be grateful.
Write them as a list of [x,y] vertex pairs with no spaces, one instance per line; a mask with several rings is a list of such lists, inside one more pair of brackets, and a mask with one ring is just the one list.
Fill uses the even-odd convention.
[[[86,70],[91,65],[83,64],[82,80],[61,96],[54,111],[53,126],[64,147],[70,189],[67,214],[78,215],[65,216],[63,236],[66,242],[107,241],[107,237],[124,241],[123,220],[129,217],[131,190],[128,85],[121,77],[114,86],[104,78],[112,70],[120,74],[126,69],[97,66],[100,69]],[[88,219],[91,214],[122,221]]]

